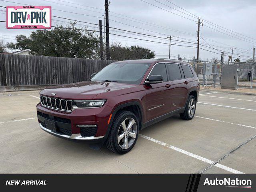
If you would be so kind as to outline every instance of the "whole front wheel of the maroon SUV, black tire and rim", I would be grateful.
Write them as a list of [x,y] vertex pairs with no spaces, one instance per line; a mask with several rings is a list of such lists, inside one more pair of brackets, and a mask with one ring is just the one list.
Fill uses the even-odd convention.
[[129,152],[138,139],[139,129],[139,121],[134,113],[118,112],[105,142],[106,148],[117,154]]

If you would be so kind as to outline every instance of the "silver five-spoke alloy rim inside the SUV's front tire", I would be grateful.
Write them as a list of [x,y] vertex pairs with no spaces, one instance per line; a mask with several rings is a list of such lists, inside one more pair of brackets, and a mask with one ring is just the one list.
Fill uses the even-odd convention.
[[137,136],[137,124],[133,118],[126,118],[118,129],[117,141],[122,149],[132,146]]

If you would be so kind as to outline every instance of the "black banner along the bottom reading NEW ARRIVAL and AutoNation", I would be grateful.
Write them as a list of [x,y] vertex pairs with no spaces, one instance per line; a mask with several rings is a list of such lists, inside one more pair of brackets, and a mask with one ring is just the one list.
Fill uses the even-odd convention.
[[0,174],[2,191],[254,191],[256,174]]

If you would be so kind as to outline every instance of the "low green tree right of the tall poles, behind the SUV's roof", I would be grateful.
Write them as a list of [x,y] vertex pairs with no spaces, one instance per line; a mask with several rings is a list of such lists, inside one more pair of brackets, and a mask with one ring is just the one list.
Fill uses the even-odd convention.
[[120,42],[114,42],[110,46],[111,60],[152,59],[154,57],[154,51],[138,45],[128,47],[123,46]]

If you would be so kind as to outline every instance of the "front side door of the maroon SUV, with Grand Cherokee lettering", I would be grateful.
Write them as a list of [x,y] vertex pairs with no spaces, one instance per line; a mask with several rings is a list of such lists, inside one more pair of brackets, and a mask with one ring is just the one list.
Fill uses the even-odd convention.
[[148,77],[150,75],[162,75],[163,82],[145,85],[147,94],[147,122],[170,112],[172,95],[171,85],[170,82],[168,82],[166,66],[164,63],[155,64]]

